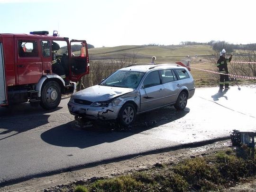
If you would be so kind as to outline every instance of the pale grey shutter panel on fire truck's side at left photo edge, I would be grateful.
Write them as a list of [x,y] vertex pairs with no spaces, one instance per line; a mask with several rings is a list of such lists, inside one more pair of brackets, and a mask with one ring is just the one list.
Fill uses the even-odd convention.
[[0,105],[7,103],[6,98],[6,86],[5,86],[5,74],[4,74],[4,59],[3,59],[3,47],[0,42]]

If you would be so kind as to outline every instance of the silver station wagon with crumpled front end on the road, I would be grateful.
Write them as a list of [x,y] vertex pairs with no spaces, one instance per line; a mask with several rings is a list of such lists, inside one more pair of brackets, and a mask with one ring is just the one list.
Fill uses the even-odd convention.
[[174,105],[184,109],[195,92],[192,75],[176,64],[135,64],[100,84],[74,93],[70,113],[89,119],[118,120],[131,125],[138,114]]

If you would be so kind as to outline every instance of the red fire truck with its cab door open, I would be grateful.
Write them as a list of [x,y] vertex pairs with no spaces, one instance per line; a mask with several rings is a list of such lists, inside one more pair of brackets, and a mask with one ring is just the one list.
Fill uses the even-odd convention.
[[[53,72],[53,63],[62,74]],[[0,33],[0,106],[29,102],[54,109],[61,95],[75,92],[76,82],[86,74],[89,56],[84,40],[69,42],[56,31]]]

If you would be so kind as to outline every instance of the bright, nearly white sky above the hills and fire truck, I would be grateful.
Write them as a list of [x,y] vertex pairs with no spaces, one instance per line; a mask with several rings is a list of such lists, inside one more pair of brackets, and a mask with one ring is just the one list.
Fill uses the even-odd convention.
[[59,31],[95,47],[256,43],[255,0],[0,0],[0,33]]

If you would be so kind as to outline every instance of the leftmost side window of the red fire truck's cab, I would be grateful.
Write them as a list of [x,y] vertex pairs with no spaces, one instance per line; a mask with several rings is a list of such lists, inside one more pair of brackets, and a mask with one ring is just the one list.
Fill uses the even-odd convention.
[[38,57],[37,41],[19,40],[18,56],[19,57]]

